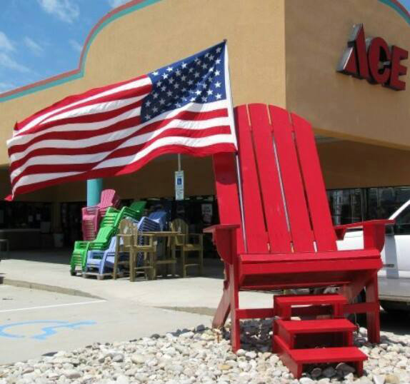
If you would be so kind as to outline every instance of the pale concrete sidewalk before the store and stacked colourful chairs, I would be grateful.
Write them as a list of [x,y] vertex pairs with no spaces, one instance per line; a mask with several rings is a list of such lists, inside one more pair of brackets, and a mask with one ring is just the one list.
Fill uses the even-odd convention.
[[[0,263],[4,283],[46,289],[71,295],[84,295],[105,300],[129,300],[136,305],[173,308],[212,315],[222,293],[223,266],[217,259],[205,259],[204,276],[196,277],[192,268],[189,278],[158,278],[156,281],[128,279],[98,281],[70,276],[71,250],[10,252]],[[26,284],[26,285],[24,285]],[[241,293],[241,305],[261,308],[272,305],[270,293]]]

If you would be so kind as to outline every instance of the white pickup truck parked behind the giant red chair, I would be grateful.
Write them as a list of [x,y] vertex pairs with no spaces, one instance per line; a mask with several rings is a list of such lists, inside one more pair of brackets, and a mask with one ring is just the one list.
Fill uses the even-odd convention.
[[[381,252],[380,303],[388,312],[410,312],[410,200],[389,218],[395,224],[386,227],[386,242]],[[363,248],[363,232],[347,232],[337,246],[339,250]]]

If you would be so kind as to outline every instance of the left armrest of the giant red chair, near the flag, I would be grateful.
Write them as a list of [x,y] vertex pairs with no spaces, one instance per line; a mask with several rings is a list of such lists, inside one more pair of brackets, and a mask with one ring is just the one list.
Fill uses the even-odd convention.
[[236,253],[236,230],[240,227],[239,224],[217,224],[204,228],[204,233],[212,233],[212,241],[225,263],[233,263]]

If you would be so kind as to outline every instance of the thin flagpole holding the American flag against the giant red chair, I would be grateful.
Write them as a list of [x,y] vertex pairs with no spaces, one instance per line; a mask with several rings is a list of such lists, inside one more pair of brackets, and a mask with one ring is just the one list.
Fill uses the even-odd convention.
[[235,126],[235,119],[234,119],[234,103],[232,101],[232,93],[231,93],[231,73],[229,71],[229,60],[228,60],[228,41],[225,41],[225,56],[224,56],[224,63],[225,63],[225,90],[226,90],[226,99],[229,101],[228,113],[231,121],[231,126],[233,127],[233,136],[235,138],[235,146],[236,146],[236,153],[235,153],[235,161],[236,161],[236,176],[238,178],[238,192],[239,192],[239,206],[241,208],[241,219],[242,219],[242,234],[244,237],[244,246],[245,252],[248,251],[248,246],[246,244],[246,231],[245,231],[245,213],[244,213],[244,198],[242,196],[242,180],[241,180],[241,171],[240,171],[240,164],[239,164],[239,156],[238,156],[238,140],[236,138],[236,126]]

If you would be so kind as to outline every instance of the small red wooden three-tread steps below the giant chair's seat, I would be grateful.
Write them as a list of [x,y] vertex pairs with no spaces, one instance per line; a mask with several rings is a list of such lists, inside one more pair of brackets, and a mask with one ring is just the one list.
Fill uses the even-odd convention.
[[[273,351],[279,354],[295,378],[301,377],[307,364],[315,363],[351,363],[358,375],[363,373],[363,361],[367,356],[353,346],[352,333],[356,326],[341,318],[344,304],[346,298],[338,294],[274,296],[277,317],[274,319]],[[309,314],[315,313],[316,307],[330,307],[331,318],[290,320],[297,305],[304,305],[304,312]]]

